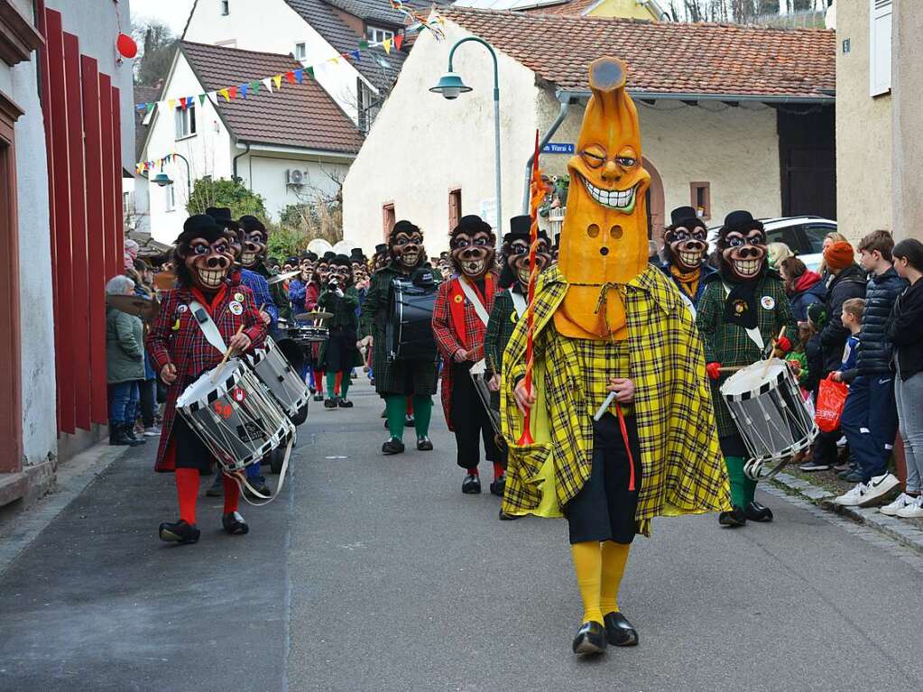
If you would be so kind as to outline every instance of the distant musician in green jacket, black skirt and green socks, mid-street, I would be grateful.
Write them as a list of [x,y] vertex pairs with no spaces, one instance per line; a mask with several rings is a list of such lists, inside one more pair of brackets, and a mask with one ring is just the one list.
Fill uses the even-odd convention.
[[[353,285],[353,268],[349,257],[338,255],[331,263],[327,284],[322,287],[318,297],[318,306],[332,317],[327,324],[330,327],[330,340],[320,347],[321,368],[327,374],[327,400],[324,408],[352,409],[353,402],[346,399],[349,391],[349,373],[362,364],[362,356],[356,348],[356,331],[359,320],[355,308],[359,304],[359,293]],[[340,394],[335,392],[337,376],[340,376]]]

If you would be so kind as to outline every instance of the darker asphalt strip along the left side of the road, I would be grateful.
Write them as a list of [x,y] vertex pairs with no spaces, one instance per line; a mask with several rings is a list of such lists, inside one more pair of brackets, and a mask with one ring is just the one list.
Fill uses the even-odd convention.
[[282,688],[293,486],[242,504],[250,533],[232,537],[203,479],[199,543],[160,543],[176,501],[156,448],[116,460],[0,576],[0,690]]

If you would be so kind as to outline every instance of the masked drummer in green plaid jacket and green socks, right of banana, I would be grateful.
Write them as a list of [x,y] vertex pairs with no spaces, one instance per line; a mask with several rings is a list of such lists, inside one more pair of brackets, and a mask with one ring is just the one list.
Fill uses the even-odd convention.
[[749,211],[732,211],[718,232],[720,266],[707,277],[696,324],[705,343],[708,376],[718,436],[731,483],[731,511],[722,512],[722,526],[738,527],[752,521],[772,521],[773,512],[754,498],[756,481],[744,473],[749,457],[737,425],[731,418],[720,386],[727,377],[723,367],[746,366],[765,357],[777,342],[783,353],[797,340],[797,323],[785,295],[785,284],[766,263],[766,233]]

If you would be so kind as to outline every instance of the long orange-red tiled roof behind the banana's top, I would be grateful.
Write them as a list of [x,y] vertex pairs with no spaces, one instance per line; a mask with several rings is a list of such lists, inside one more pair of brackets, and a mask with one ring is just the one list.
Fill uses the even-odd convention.
[[493,12],[439,13],[558,89],[587,89],[587,66],[613,55],[629,66],[633,93],[829,99],[835,34],[728,24],[651,22]]

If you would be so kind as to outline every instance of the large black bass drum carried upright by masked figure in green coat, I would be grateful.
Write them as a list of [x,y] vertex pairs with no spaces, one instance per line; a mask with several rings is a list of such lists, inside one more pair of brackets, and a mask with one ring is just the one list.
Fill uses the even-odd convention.
[[433,337],[435,283],[417,285],[412,280],[391,281],[390,319],[385,325],[385,349],[390,362],[436,363]]

